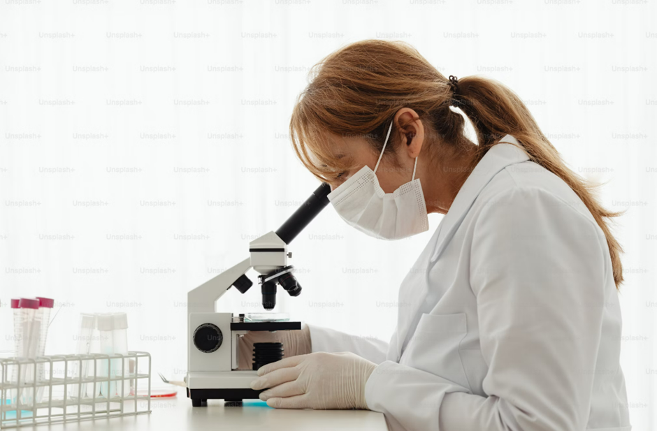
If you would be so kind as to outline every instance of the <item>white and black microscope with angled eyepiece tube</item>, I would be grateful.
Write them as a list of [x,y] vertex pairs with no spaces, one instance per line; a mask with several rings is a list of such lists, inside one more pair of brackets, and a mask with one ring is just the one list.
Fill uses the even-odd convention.
[[254,330],[301,330],[301,322],[245,321],[244,314],[215,312],[215,302],[231,287],[246,293],[253,284],[245,275],[251,268],[260,274],[264,309],[275,307],[278,285],[298,296],[301,286],[288,265],[292,254],[287,245],[328,205],[330,192],[329,184],[322,183],[277,231],[249,243],[248,258],[187,293],[185,382],[192,406],[205,407],[209,399],[239,403],[259,397],[262,390],[251,389],[251,381],[257,378],[259,367],[280,360],[283,349],[280,343],[256,343],[253,369],[238,370],[239,337]]

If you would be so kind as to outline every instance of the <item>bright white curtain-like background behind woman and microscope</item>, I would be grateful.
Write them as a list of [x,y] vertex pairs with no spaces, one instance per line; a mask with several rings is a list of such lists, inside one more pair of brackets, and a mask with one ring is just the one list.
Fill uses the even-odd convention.
[[[524,99],[600,198],[627,210],[622,365],[635,430],[657,420],[654,1],[0,3],[0,350],[8,300],[55,298],[46,353],[80,312],[129,314],[129,347],[185,373],[189,289],[247,257],[318,183],[289,145],[309,68],[364,38]],[[296,320],[389,339],[428,232],[381,242],[329,207],[291,244]],[[251,273],[252,279],[254,274]],[[259,310],[259,286],[222,311]]]

